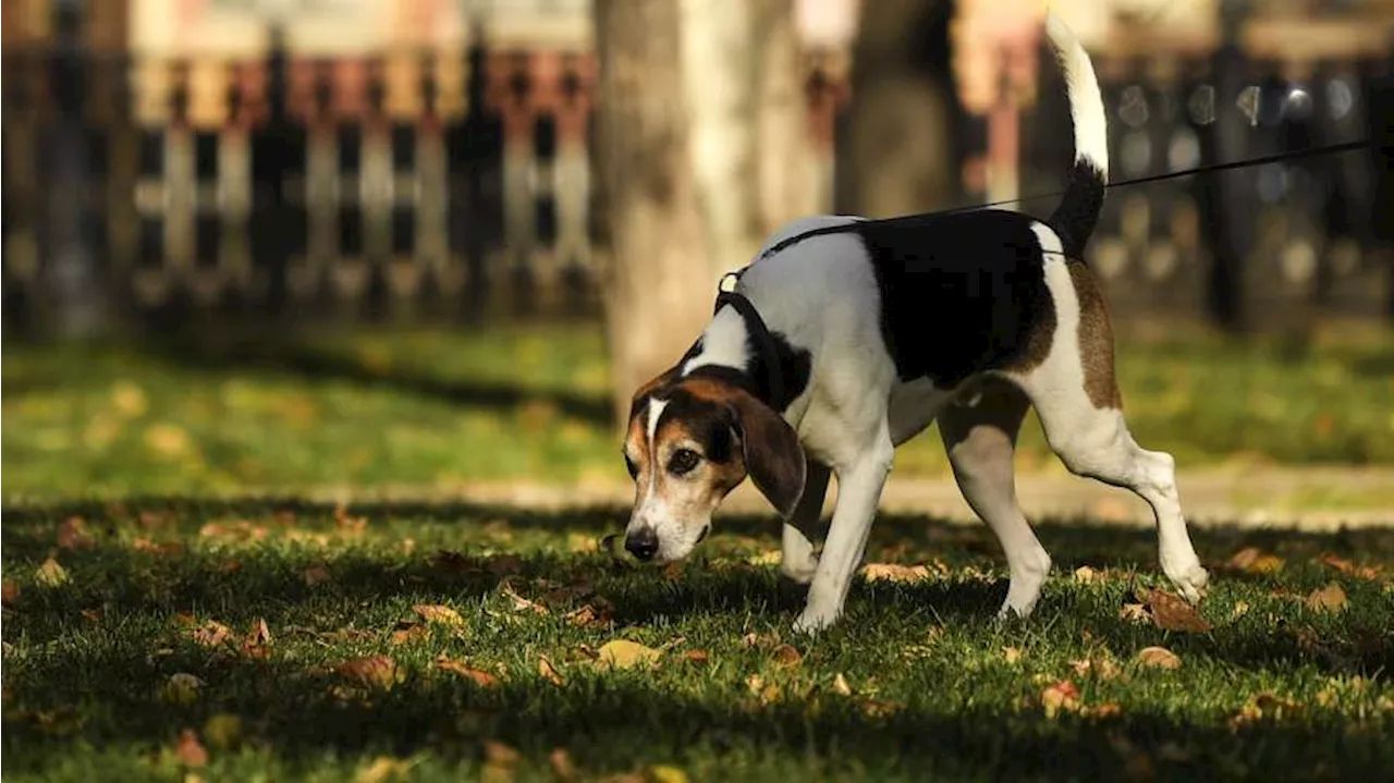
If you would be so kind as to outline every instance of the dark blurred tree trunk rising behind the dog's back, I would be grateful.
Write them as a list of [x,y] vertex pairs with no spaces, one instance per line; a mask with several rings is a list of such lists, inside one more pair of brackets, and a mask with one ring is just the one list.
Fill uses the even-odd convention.
[[951,206],[948,14],[944,0],[861,4],[839,210],[891,217]]

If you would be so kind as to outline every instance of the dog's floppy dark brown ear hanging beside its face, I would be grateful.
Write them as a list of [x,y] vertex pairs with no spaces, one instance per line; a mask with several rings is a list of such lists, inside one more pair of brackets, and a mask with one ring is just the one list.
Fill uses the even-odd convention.
[[803,496],[807,478],[799,435],[774,408],[744,392],[732,394],[730,405],[736,412],[746,472],[779,515],[788,520]]

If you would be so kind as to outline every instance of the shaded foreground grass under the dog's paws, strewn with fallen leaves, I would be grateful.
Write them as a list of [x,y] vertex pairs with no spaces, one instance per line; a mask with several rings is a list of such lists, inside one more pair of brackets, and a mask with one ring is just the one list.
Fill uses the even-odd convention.
[[[859,581],[845,620],[807,641],[789,633],[802,595],[775,574],[767,520],[725,520],[671,573],[595,550],[620,521],[293,500],[0,509],[0,779],[388,780],[375,773],[400,759],[410,780],[551,780],[559,748],[584,780],[1355,780],[1394,763],[1394,532],[1197,531],[1207,564],[1256,546],[1281,567],[1218,568],[1200,609],[1213,628],[1181,633],[1121,616],[1161,584],[1150,531],[1041,525],[1055,575],[1033,619],[997,624],[991,534],[889,517],[868,560],[924,563],[924,578]],[[1331,582],[1344,610],[1305,605]],[[424,623],[418,605],[459,621]],[[592,621],[567,619],[584,606]],[[269,641],[248,646],[261,621]],[[652,670],[597,669],[587,651],[613,639],[662,652]],[[1136,663],[1151,645],[1182,666]],[[364,656],[390,658],[392,676],[340,666]],[[1079,697],[1052,712],[1043,694],[1062,680]],[[201,761],[176,752],[184,730],[205,766],[180,761]],[[519,758],[488,766],[502,745]]]

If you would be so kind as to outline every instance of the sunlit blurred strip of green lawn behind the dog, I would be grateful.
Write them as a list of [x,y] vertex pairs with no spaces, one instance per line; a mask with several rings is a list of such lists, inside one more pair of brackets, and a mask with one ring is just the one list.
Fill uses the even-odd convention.
[[[1124,340],[1139,440],[1182,467],[1394,463],[1394,340]],[[0,344],[0,496],[623,481],[590,326]],[[1062,471],[1027,422],[1022,471]],[[938,437],[896,475],[947,470]]]

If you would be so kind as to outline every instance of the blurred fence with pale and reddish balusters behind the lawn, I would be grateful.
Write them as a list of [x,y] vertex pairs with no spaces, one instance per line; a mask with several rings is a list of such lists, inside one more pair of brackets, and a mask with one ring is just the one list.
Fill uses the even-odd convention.
[[[1100,53],[1112,177],[1213,162],[1236,116],[1246,156],[1388,144],[1388,49],[1308,63]],[[832,127],[842,71],[809,57],[815,135]],[[0,53],[3,322],[74,308],[160,325],[592,315],[594,79],[588,53],[487,42],[457,59]],[[1061,185],[1066,123],[1061,91],[1040,89],[1022,134],[1023,192]],[[1117,318],[1390,316],[1384,155],[1230,173],[1225,189],[1211,176],[1112,191],[1090,262]],[[1238,265],[1216,248],[1238,248]]]

